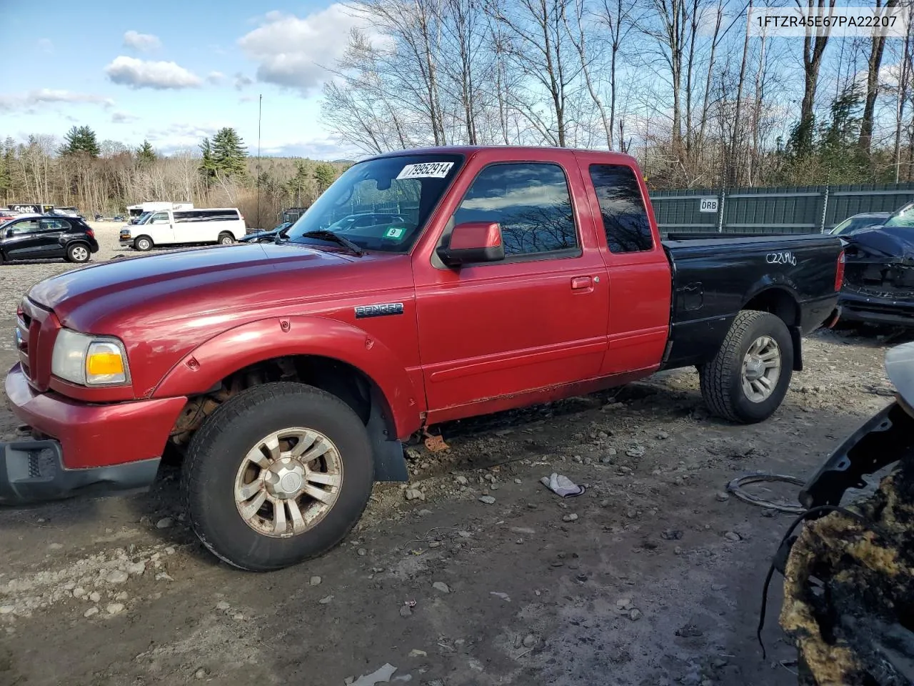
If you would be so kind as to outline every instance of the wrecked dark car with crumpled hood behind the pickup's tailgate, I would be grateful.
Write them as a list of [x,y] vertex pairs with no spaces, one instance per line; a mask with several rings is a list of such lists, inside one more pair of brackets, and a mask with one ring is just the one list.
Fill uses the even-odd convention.
[[914,328],[914,202],[841,240],[841,321]]

